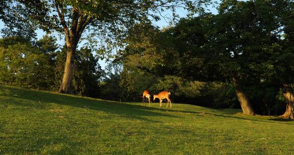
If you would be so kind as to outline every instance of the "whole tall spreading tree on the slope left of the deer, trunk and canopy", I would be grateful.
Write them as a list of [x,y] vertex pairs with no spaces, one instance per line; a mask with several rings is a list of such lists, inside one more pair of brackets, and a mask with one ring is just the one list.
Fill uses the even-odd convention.
[[[119,40],[125,36],[126,30],[138,21],[149,21],[149,17],[159,19],[159,13],[170,9],[175,14],[176,7],[185,7],[192,12],[199,4],[207,1],[191,0],[156,0],[156,1],[6,1],[10,4],[22,4],[27,8],[34,23],[42,29],[53,29],[61,33],[66,42],[67,56],[59,89],[61,93],[69,93],[71,80],[74,75],[75,53],[81,38],[87,38],[94,48],[98,42],[104,51],[111,51],[114,46],[121,46]],[[21,6],[21,5],[20,5]],[[33,14],[35,13],[35,15]],[[45,14],[45,15],[44,15]],[[44,16],[39,16],[44,15]],[[88,36],[83,36],[84,32]],[[99,36],[99,37],[97,37]],[[111,44],[111,45],[110,45]],[[108,49],[108,50],[106,50]]]

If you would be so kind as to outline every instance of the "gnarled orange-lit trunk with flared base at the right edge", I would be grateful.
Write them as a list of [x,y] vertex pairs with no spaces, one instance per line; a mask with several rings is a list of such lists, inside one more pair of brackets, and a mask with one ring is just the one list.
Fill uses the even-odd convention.
[[287,108],[281,117],[294,119],[294,94],[290,85],[284,84],[283,95],[287,100]]

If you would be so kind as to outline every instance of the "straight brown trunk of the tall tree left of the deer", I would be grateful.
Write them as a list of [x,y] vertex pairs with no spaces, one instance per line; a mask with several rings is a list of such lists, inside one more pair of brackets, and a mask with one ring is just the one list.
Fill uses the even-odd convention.
[[71,90],[71,79],[72,76],[74,75],[75,71],[75,49],[72,48],[67,48],[67,55],[66,55],[66,62],[65,62],[65,67],[64,67],[64,73],[63,73],[63,78],[62,82],[60,85],[60,88],[58,92],[60,93],[70,93]]

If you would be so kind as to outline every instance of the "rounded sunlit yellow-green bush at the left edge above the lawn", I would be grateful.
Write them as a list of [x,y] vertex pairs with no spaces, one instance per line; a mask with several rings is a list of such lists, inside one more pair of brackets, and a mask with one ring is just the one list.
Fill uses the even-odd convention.
[[28,88],[50,87],[51,67],[48,57],[30,44],[9,45],[0,50],[1,75],[4,84]]

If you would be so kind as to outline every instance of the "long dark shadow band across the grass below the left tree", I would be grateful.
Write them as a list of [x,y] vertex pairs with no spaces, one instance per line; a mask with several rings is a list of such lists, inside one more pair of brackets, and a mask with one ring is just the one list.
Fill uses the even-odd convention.
[[[11,96],[26,101],[7,100],[9,104],[17,106],[33,107],[36,109],[46,109],[46,104],[59,104],[63,106],[71,106],[77,108],[87,108],[91,110],[104,111],[107,113],[118,114],[123,117],[131,117],[149,122],[159,122],[156,120],[142,118],[142,116],[167,116],[176,117],[173,115],[162,114],[152,110],[160,110],[152,107],[144,107],[139,105],[121,104],[115,101],[99,100],[94,98],[84,98],[74,95],[54,94],[44,91],[34,91],[29,89],[21,89],[17,87],[7,87],[0,85],[0,96]],[[32,103],[33,102],[33,103]],[[166,111],[166,110],[164,110]]]

